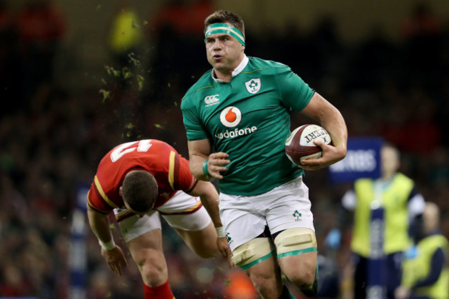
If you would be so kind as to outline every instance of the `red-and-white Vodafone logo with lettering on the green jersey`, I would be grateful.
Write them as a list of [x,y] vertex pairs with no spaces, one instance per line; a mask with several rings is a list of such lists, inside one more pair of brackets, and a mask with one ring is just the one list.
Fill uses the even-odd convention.
[[215,134],[218,139],[235,138],[237,136],[244,136],[257,131],[256,126],[238,128],[237,125],[242,121],[242,112],[238,107],[226,107],[220,114],[220,121],[225,127],[232,127],[231,130]]

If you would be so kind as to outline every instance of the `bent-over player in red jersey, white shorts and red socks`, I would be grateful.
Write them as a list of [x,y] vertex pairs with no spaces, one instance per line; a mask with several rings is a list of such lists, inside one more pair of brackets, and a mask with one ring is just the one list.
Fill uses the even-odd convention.
[[198,256],[211,258],[218,250],[230,258],[218,199],[215,187],[196,180],[189,161],[173,147],[154,139],[133,141],[113,148],[99,163],[88,193],[88,219],[102,256],[122,275],[126,258],[114,243],[108,219],[114,211],[144,280],[145,298],[172,299],[159,214]]

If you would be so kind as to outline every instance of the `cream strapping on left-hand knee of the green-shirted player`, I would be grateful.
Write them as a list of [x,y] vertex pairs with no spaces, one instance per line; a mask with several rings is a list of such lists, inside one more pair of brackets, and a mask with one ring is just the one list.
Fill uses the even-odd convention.
[[274,252],[274,244],[269,238],[254,238],[234,249],[232,262],[245,270],[266,260]]

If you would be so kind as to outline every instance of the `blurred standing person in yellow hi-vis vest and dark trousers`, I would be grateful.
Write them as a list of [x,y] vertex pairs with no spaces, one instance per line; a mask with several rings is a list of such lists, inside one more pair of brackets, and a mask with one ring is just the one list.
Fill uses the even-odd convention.
[[[381,178],[359,178],[354,189],[342,198],[341,219],[338,228],[332,229],[326,243],[338,248],[341,244],[341,229],[347,223],[347,212],[354,212],[351,249],[354,266],[354,296],[366,298],[368,293],[370,258],[373,258],[372,238],[376,231],[371,229],[374,207],[382,211],[383,271],[382,286],[386,298],[394,298],[394,290],[401,283],[401,258],[411,243],[409,237],[412,225],[424,209],[423,196],[417,192],[414,181],[399,171],[399,151],[392,145],[381,149]],[[379,266],[378,266],[379,267]]]

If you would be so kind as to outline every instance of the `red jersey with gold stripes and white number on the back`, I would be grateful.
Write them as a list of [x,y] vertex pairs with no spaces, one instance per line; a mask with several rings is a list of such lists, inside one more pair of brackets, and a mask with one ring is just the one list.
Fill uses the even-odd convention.
[[88,193],[88,205],[108,214],[124,207],[119,194],[125,175],[134,169],[147,170],[155,177],[159,189],[155,208],[163,205],[178,190],[190,192],[197,180],[189,161],[162,141],[146,139],[117,145],[102,158]]

